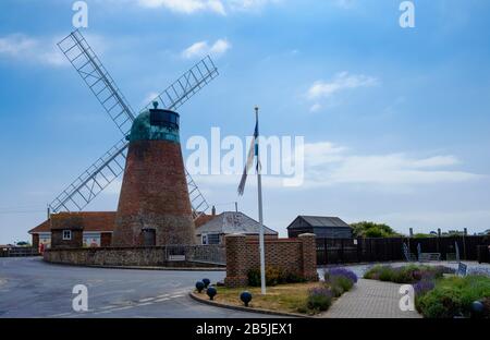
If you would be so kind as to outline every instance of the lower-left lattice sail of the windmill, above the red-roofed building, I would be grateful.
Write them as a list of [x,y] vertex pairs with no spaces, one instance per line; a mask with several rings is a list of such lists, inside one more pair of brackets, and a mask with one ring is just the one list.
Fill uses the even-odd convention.
[[125,167],[127,141],[122,138],[97,159],[49,205],[52,212],[81,211],[112,183]]

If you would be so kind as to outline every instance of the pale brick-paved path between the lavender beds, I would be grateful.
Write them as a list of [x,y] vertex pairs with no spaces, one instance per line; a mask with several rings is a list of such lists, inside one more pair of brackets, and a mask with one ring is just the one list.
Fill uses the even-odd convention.
[[359,279],[352,291],[343,294],[326,318],[419,318],[417,312],[402,312],[399,307],[401,284]]

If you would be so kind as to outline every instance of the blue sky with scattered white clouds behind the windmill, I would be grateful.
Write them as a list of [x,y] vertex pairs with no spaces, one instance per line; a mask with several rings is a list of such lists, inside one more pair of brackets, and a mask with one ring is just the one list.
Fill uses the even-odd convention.
[[[74,2],[74,1],[73,1]],[[0,2],[0,244],[29,240],[49,204],[121,138],[57,50],[72,1]],[[490,2],[89,0],[94,50],[134,109],[210,54],[220,76],[179,111],[192,136],[303,136],[305,180],[264,178],[265,224],[297,215],[407,233],[490,229]],[[244,150],[245,153],[246,150]],[[244,156],[245,157],[245,156]],[[257,219],[250,175],[196,174],[218,212]],[[87,210],[115,210],[120,181]]]

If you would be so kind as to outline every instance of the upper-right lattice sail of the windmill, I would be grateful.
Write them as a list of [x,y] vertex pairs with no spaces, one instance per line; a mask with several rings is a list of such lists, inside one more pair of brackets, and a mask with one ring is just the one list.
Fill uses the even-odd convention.
[[211,58],[207,56],[151,100],[143,110],[152,108],[154,101],[158,101],[161,108],[176,110],[218,75],[218,69]]

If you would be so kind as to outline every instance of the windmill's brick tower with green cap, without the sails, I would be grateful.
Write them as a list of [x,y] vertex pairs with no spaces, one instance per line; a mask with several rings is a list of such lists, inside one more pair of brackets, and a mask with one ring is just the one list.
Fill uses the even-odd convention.
[[113,245],[195,243],[179,125],[157,101],[133,122]]

